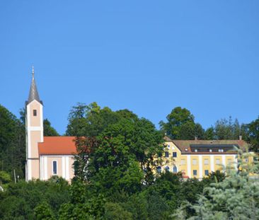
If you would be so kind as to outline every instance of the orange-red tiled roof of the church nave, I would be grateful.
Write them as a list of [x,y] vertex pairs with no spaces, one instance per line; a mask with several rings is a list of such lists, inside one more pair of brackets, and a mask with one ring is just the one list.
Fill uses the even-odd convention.
[[38,144],[40,155],[71,155],[76,153],[76,137],[44,137]]

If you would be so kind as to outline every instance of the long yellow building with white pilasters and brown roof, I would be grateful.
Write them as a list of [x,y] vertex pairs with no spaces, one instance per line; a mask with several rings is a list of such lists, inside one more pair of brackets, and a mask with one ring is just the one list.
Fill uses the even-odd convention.
[[165,138],[165,163],[159,169],[182,172],[186,178],[203,178],[222,165],[236,162],[235,147],[245,149],[248,144],[238,140],[171,140]]

